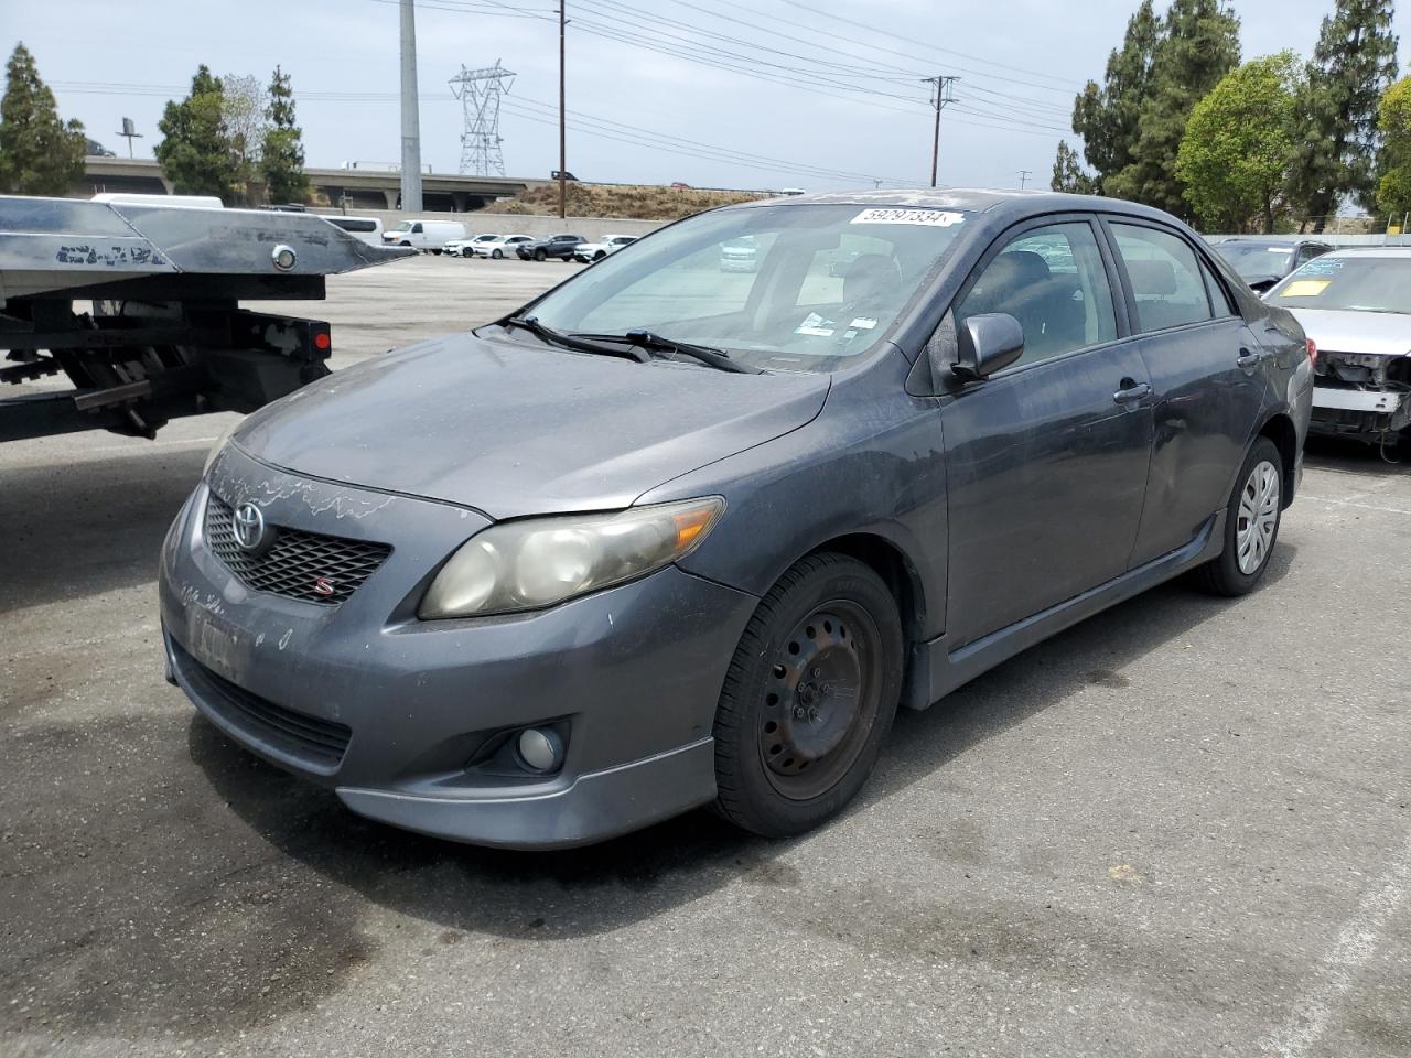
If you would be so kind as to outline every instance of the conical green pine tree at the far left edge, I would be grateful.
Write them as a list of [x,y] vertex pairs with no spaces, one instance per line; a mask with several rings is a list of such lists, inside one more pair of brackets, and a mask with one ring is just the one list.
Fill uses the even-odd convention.
[[59,118],[54,93],[40,80],[34,56],[24,44],[17,44],[6,66],[0,100],[0,190],[68,195],[83,175],[85,154],[83,126]]

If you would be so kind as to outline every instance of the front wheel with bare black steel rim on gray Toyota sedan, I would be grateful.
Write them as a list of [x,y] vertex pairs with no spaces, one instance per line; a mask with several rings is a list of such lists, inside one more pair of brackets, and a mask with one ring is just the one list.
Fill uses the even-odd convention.
[[841,811],[892,728],[902,655],[896,602],[871,567],[832,553],[794,564],[761,600],[725,676],[715,810],[766,838]]

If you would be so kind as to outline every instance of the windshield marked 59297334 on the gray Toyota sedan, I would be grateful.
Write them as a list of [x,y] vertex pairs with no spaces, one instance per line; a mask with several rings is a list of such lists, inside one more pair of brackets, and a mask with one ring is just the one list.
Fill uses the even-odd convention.
[[871,351],[951,253],[968,214],[755,206],[638,240],[528,310],[569,334],[649,330],[770,371],[837,371]]

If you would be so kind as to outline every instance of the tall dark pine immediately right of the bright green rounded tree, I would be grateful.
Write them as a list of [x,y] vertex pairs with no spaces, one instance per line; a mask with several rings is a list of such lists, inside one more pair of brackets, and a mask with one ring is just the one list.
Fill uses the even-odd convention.
[[1322,21],[1300,100],[1305,134],[1295,190],[1315,231],[1345,196],[1373,205],[1377,106],[1397,76],[1393,7],[1391,0],[1338,0]]

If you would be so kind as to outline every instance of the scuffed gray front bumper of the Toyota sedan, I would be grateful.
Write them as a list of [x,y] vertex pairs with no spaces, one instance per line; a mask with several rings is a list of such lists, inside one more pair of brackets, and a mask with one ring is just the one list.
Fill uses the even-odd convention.
[[[230,447],[209,482],[162,549],[168,664],[254,753],[360,814],[515,848],[598,841],[714,797],[715,704],[753,597],[667,567],[536,614],[423,622],[416,601],[480,515],[296,478]],[[392,554],[337,607],[251,591],[202,539],[212,488],[271,525]],[[540,724],[567,735],[559,773],[488,756]]]

